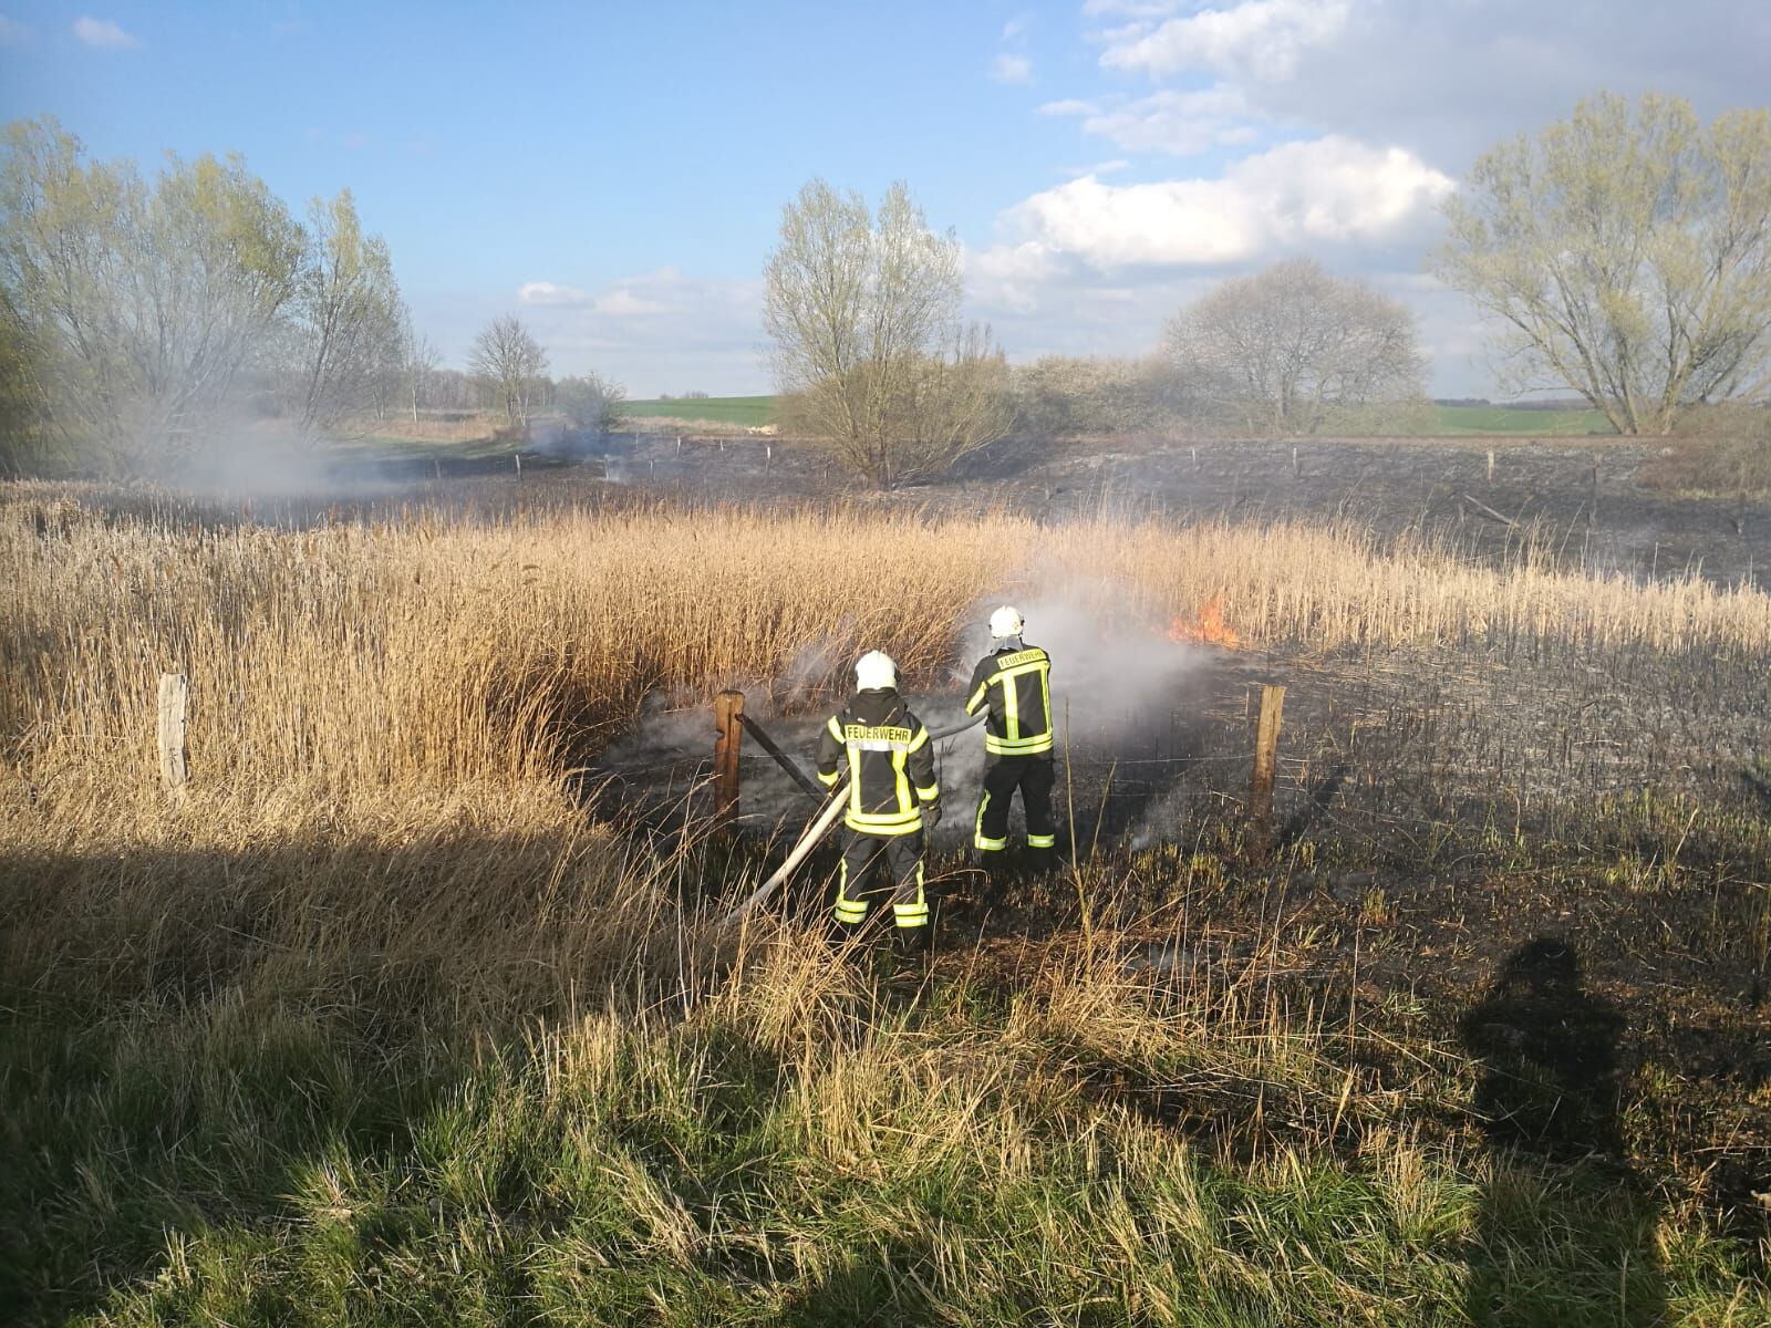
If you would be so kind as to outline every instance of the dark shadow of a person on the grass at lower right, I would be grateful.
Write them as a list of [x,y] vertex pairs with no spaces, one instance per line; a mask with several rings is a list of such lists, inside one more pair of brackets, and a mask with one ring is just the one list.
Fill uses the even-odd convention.
[[1550,935],[1507,956],[1465,1015],[1491,1153],[1470,1245],[1472,1323],[1661,1323],[1659,1206],[1619,1126],[1622,1034],[1622,1015],[1585,988],[1574,946]]

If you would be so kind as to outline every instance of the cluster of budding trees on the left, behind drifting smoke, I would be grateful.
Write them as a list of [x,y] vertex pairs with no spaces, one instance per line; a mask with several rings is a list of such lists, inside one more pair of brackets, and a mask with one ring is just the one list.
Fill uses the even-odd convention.
[[145,177],[53,119],[5,126],[0,152],[0,467],[159,471],[251,423],[312,441],[421,409],[607,427],[620,405],[595,374],[549,377],[515,317],[445,368],[349,189],[298,221],[239,156]]

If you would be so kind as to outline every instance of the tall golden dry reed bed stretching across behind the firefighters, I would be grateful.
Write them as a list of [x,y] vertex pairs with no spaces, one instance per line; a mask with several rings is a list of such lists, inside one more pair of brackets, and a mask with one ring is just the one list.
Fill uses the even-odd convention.
[[650,506],[204,531],[108,524],[25,489],[0,499],[0,579],[14,590],[0,600],[0,733],[16,774],[78,770],[115,797],[151,774],[161,671],[193,678],[211,791],[515,784],[588,756],[652,691],[829,683],[868,646],[939,685],[958,625],[995,595],[1070,593],[1100,606],[1103,629],[1151,630],[1222,597],[1245,641],[1312,650],[1771,648],[1757,590],[1528,558],[1491,570],[1307,524]]

